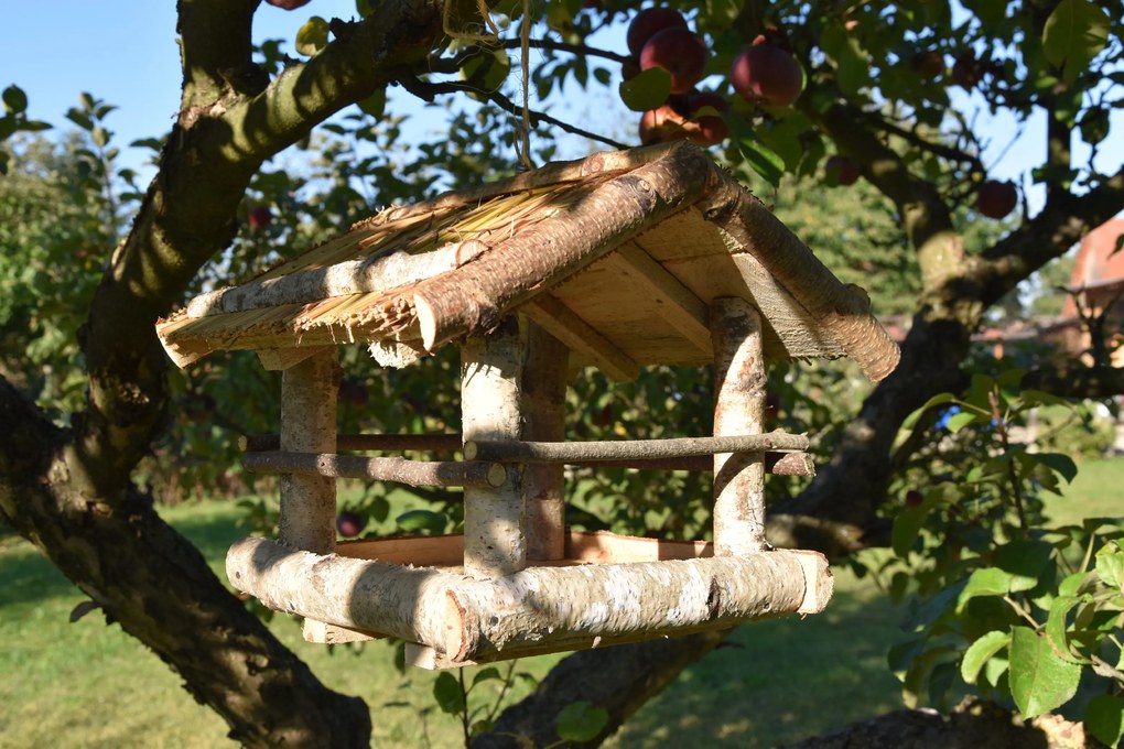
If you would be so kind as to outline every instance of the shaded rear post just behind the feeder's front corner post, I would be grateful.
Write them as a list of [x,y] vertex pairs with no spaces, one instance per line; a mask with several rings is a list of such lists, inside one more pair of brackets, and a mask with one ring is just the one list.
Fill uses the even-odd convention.
[[[565,437],[565,386],[569,349],[558,338],[526,321],[523,369],[523,439],[562,441]],[[561,463],[529,463],[523,469],[527,497],[527,558],[565,557],[565,500]]]

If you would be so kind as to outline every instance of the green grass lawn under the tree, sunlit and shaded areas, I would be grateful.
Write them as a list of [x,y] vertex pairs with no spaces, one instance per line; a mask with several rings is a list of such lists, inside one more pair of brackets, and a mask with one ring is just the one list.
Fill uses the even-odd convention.
[[[1055,521],[1122,514],[1115,488],[1124,460],[1091,460],[1066,497],[1051,501]],[[184,504],[163,514],[217,573],[228,544],[244,531],[233,503]],[[30,545],[0,536],[0,747],[225,747],[226,727],[180,688],[180,681],[136,640],[93,612],[75,623],[84,596]],[[743,625],[731,647],[701,659],[646,704],[614,737],[614,747],[769,747],[898,706],[886,651],[899,637],[898,614],[869,581],[837,576],[823,614]],[[435,675],[393,667],[393,648],[305,643],[291,619],[274,632],[332,688],[371,706],[374,746],[450,747],[459,723],[436,711]],[[558,656],[519,661],[542,676]],[[471,678],[471,669],[468,674]],[[497,683],[481,686],[481,702]],[[518,682],[516,695],[529,688]],[[474,695],[475,696],[475,695]],[[475,703],[479,704],[479,703]]]

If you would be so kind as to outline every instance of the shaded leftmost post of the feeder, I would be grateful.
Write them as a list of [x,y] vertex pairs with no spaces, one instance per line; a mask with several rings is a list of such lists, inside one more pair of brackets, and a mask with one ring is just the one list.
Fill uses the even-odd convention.
[[[338,351],[321,349],[281,375],[281,449],[336,451]],[[281,476],[279,540],[288,546],[330,554],[336,548],[336,479]]]

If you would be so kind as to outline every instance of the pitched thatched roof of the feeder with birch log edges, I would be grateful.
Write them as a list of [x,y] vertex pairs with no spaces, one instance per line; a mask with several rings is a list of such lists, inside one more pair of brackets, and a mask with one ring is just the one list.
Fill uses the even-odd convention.
[[547,165],[393,208],[157,323],[179,366],[219,349],[373,344],[409,360],[518,312],[617,378],[713,359],[707,309],[753,302],[773,359],[898,350],[769,210],[686,143]]

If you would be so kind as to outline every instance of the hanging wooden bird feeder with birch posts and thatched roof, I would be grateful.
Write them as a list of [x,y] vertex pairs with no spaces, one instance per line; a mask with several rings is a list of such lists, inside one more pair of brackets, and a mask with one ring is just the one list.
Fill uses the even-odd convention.
[[[812,473],[799,435],[762,433],[767,362],[898,350],[747,190],[688,144],[597,154],[393,208],[157,325],[181,367],[253,349],[283,371],[281,433],[246,467],[281,475],[277,541],[227,556],[239,591],[306,618],[306,638],[393,636],[451,667],[676,636],[827,603],[814,551],[764,538],[767,471]],[[337,435],[336,347],[404,366],[462,351],[461,435]],[[566,375],[715,365],[711,436],[563,441]],[[343,455],[460,450],[460,460]],[[452,455],[450,456],[452,457]],[[714,542],[568,530],[565,464],[715,473]],[[336,479],[460,486],[464,533],[337,542]]]

